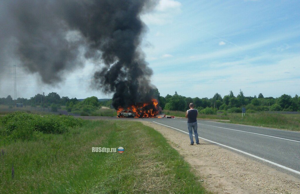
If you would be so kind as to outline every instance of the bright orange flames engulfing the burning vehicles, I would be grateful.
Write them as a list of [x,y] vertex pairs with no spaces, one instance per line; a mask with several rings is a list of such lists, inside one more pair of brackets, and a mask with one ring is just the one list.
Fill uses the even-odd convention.
[[[127,110],[127,113],[122,113],[124,110]],[[131,105],[127,108],[119,107],[117,115],[118,117],[130,117],[128,116],[129,111],[132,111],[133,114],[131,117],[134,118],[156,117],[156,115],[159,114],[158,101],[156,99],[152,99],[151,102],[138,102],[136,105]],[[123,114],[127,115],[124,116]]]

